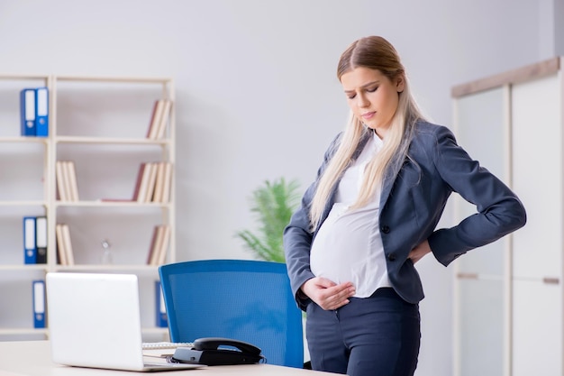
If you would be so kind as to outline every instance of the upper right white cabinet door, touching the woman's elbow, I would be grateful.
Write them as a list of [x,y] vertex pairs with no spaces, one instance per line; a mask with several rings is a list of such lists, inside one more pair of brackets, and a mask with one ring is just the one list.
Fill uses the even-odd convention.
[[514,191],[528,221],[514,234],[514,276],[561,279],[562,96],[559,75],[514,85]]

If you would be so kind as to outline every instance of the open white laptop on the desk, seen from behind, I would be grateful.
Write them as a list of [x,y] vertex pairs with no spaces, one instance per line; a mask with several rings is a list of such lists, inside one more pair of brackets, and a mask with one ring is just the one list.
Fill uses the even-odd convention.
[[53,362],[127,371],[205,367],[143,362],[136,275],[50,272],[46,288]]

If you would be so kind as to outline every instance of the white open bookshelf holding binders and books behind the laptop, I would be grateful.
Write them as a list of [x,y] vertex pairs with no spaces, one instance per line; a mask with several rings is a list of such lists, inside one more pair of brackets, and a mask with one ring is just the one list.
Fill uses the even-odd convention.
[[[49,136],[23,137],[19,92],[24,87],[43,86],[50,91]],[[141,297],[143,333],[166,336],[168,330],[154,324],[154,291],[148,289],[159,279],[157,266],[146,261],[155,225],[170,227],[166,262],[176,260],[172,79],[0,75],[0,101],[3,99],[0,147],[9,149],[3,160],[22,163],[13,170],[7,161],[0,162],[0,169],[10,171],[0,170],[0,181],[9,188],[8,194],[0,194],[0,239],[5,239],[0,298],[11,301],[0,308],[0,341],[49,337],[49,328],[33,328],[32,320],[32,280],[44,279],[49,271],[137,274],[141,294],[146,295]],[[158,99],[168,99],[173,105],[165,135],[152,140],[146,135],[152,105]],[[79,200],[58,199],[57,160],[75,162]],[[172,164],[168,202],[104,201],[131,199],[139,166],[150,161]],[[47,217],[45,264],[24,264],[23,216]],[[58,261],[58,223],[69,226],[74,265]],[[106,238],[114,253],[111,264],[102,263],[100,257],[100,243]]]

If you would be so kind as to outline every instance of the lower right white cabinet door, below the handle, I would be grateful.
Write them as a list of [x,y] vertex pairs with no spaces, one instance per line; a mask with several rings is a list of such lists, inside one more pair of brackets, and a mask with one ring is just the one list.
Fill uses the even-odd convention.
[[513,376],[562,375],[562,289],[514,280]]

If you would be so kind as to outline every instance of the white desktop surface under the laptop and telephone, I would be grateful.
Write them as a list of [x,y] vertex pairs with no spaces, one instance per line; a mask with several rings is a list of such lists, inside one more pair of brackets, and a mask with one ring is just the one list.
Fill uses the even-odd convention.
[[[154,374],[154,372],[151,372]],[[334,373],[280,367],[271,364],[223,365],[188,371],[166,371],[167,376],[315,376]],[[0,376],[132,376],[147,374],[132,371],[111,371],[90,368],[67,367],[50,359],[49,341],[0,342]]]

